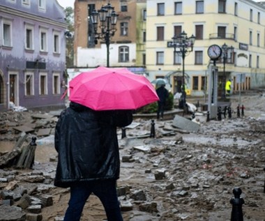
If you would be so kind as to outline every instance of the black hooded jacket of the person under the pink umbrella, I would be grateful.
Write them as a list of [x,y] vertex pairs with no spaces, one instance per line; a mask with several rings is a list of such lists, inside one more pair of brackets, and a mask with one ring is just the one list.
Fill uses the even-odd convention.
[[67,188],[77,182],[118,179],[116,127],[130,123],[130,110],[96,112],[70,102],[70,107],[61,112],[55,128],[58,165],[54,185]]

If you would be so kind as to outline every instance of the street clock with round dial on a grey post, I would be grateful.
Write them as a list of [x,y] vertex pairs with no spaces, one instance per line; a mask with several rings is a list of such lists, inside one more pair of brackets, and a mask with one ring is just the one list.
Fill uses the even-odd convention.
[[213,65],[209,66],[208,111],[210,119],[215,119],[218,112],[218,67],[216,61],[222,55],[222,48],[218,45],[211,45],[207,53],[213,61]]

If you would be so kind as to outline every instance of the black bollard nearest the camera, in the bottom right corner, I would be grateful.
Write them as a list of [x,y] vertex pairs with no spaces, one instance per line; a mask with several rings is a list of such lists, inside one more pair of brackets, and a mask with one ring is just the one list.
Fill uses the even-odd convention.
[[243,221],[242,205],[245,204],[245,201],[240,197],[241,193],[241,188],[234,188],[234,198],[230,199],[232,204],[231,221]]

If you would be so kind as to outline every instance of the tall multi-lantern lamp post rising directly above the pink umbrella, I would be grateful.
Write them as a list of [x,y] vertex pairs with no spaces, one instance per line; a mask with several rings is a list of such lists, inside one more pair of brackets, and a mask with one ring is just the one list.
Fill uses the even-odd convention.
[[[107,46],[107,67],[109,67],[109,45],[112,36],[114,36],[116,32],[116,22],[119,15],[117,15],[114,11],[114,7],[112,7],[111,3],[107,3],[107,5],[102,6],[100,10],[93,10],[91,13],[91,21],[94,28],[95,34],[95,44],[98,43],[98,39],[105,40]],[[100,20],[98,32],[98,18]]]

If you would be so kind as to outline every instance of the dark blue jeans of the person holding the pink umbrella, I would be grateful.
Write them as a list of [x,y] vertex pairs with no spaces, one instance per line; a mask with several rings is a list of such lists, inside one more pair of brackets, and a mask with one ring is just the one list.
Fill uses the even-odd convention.
[[84,204],[93,192],[102,202],[108,221],[123,221],[116,193],[116,181],[90,181],[70,188],[70,200],[64,221],[79,221]]

